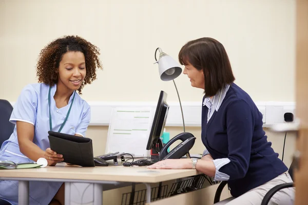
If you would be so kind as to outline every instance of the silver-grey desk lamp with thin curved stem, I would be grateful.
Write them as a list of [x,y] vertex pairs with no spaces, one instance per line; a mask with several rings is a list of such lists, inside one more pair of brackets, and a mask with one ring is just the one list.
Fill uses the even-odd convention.
[[[158,60],[156,58],[157,51],[160,52]],[[161,80],[163,81],[172,80],[176,87],[176,91],[177,91],[179,102],[180,102],[181,113],[182,113],[183,128],[185,132],[185,123],[184,123],[184,115],[183,115],[183,110],[182,110],[181,99],[180,99],[180,95],[178,92],[176,82],[174,80],[182,73],[182,69],[180,68],[180,65],[172,57],[164,53],[161,48],[157,48],[155,50],[155,60],[156,60],[155,64],[156,63],[158,64],[158,70],[159,70],[159,75],[160,75]]]

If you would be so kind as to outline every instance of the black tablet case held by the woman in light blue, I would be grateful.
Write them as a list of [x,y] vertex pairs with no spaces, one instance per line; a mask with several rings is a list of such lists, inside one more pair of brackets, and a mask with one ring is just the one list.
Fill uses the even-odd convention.
[[62,154],[64,162],[82,167],[95,167],[92,139],[48,131],[50,149]]

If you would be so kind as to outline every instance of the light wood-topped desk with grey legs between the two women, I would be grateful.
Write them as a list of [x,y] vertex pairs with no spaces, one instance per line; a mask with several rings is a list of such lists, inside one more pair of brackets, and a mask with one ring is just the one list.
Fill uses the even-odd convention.
[[[103,185],[119,185],[121,182],[145,183],[146,202],[150,202],[151,183],[174,180],[200,174],[196,170],[152,170],[146,167],[76,167],[64,163],[55,167],[38,169],[0,170],[0,180],[18,180],[18,204],[29,204],[29,181],[65,182],[65,204],[92,202],[102,204]],[[76,190],[76,184],[83,183],[83,190]],[[80,186],[79,186],[80,187]],[[73,190],[75,189],[75,190]],[[79,193],[72,196],[72,192]],[[92,199],[82,197],[93,193]],[[90,201],[89,201],[90,200]]]

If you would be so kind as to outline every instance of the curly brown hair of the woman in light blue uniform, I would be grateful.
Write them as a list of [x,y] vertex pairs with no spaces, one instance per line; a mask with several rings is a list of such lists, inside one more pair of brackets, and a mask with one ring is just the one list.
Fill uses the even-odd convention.
[[49,86],[57,83],[60,61],[68,51],[80,51],[85,56],[87,74],[78,89],[79,94],[82,94],[84,85],[91,84],[96,79],[96,68],[102,69],[102,63],[99,59],[100,49],[79,36],[57,38],[42,49],[36,64],[38,83]]

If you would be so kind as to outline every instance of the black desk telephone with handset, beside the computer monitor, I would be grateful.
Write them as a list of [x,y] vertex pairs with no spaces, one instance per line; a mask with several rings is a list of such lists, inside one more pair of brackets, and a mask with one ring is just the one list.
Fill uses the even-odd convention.
[[[170,145],[172,145],[177,140],[182,140],[182,142],[168,153],[168,147],[170,147]],[[189,132],[182,132],[178,134],[170,141],[168,141],[167,144],[160,150],[159,160],[179,159],[185,154],[188,154],[189,156],[189,150],[192,148],[192,146],[194,146],[195,140],[196,137]]]

